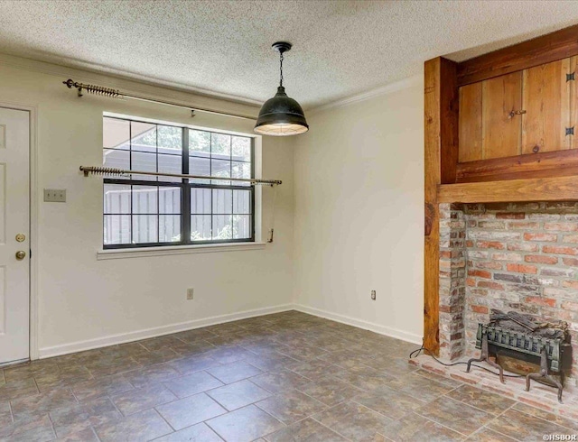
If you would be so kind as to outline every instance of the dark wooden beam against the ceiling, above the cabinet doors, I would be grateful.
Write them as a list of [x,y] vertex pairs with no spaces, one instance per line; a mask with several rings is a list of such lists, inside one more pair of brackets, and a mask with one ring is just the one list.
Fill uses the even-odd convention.
[[578,55],[578,24],[458,64],[458,86]]

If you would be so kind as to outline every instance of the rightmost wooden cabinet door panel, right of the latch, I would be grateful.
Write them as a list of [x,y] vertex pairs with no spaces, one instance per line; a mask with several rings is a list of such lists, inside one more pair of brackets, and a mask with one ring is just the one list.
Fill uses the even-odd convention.
[[570,59],[524,69],[522,153],[570,149]]

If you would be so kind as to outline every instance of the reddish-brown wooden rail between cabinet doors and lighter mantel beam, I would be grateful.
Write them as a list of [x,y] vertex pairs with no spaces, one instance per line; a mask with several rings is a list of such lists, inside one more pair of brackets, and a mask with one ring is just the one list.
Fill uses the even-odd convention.
[[525,180],[578,175],[578,150],[529,153],[458,164],[456,182]]

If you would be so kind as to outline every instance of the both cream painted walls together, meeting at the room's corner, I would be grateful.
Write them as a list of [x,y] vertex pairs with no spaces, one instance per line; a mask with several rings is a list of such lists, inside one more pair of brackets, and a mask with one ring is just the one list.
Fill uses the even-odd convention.
[[[263,250],[97,260],[102,182],[80,164],[102,160],[103,112],[252,133],[252,122],[87,95],[61,81],[118,87],[223,111],[256,108],[50,64],[0,56],[0,101],[36,106],[41,356],[298,308],[419,342],[423,294],[423,84],[308,115],[312,130],[266,137],[263,177],[284,180],[275,243]],[[271,193],[264,189],[263,232]],[[264,234],[265,235],[265,234]],[[187,301],[185,290],[195,289]],[[371,301],[369,291],[377,290]],[[224,316],[223,316],[224,315]],[[218,317],[218,318],[214,318]]]

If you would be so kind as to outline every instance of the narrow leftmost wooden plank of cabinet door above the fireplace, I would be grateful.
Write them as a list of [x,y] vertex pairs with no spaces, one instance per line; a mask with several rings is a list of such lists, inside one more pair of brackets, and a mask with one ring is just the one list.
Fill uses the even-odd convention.
[[481,160],[481,82],[460,87],[459,161]]

